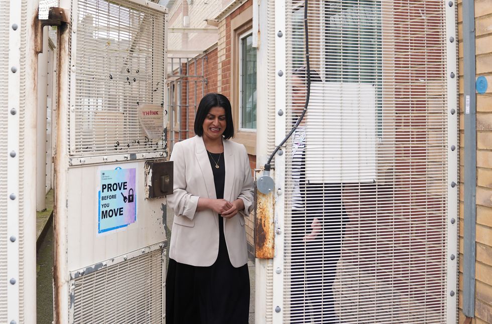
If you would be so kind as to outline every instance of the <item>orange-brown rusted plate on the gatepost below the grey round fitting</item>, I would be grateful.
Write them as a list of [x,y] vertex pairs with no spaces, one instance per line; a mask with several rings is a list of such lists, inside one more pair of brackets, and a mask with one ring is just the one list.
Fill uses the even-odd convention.
[[[257,175],[262,172],[256,170]],[[259,259],[273,259],[275,252],[274,194],[256,191],[255,255]]]

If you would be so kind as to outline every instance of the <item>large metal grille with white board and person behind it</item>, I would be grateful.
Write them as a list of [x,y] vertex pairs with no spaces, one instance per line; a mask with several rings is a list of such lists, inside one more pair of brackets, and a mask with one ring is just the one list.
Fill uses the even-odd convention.
[[[288,130],[304,106],[303,6],[285,3]],[[283,320],[445,322],[445,4],[309,1],[308,23],[318,76],[286,152]]]

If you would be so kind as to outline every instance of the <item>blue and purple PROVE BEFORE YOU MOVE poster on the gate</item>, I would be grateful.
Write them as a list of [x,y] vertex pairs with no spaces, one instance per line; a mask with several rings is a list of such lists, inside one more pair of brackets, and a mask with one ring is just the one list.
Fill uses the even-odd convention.
[[128,226],[137,220],[135,168],[100,171],[98,232]]

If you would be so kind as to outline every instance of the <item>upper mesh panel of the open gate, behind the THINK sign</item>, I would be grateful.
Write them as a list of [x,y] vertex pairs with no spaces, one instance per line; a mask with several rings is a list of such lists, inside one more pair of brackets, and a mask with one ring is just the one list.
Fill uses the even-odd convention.
[[[138,119],[138,105],[163,107],[164,13],[130,1],[79,1],[72,18],[70,153],[159,151]],[[74,79],[75,77],[75,79]]]

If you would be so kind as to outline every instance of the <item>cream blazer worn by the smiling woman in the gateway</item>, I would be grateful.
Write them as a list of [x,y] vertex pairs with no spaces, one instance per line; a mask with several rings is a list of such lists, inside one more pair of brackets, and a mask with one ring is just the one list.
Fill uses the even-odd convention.
[[[223,140],[224,199],[244,202],[244,214],[253,209],[254,187],[250,161],[242,144]],[[196,211],[198,198],[216,199],[212,167],[200,136],[178,142],[173,147],[174,191],[167,203],[174,210],[169,257],[180,263],[210,266],[219,250],[218,214],[211,209]],[[240,267],[248,261],[244,216],[237,213],[224,222],[224,236],[230,263]]]

